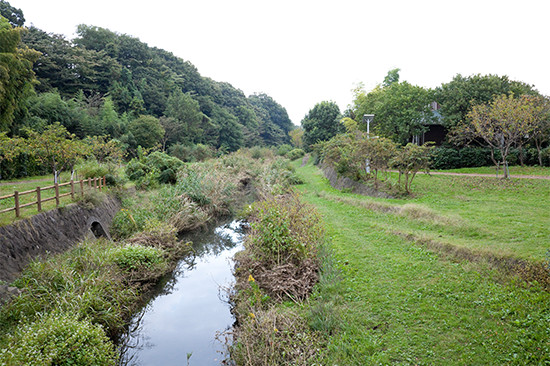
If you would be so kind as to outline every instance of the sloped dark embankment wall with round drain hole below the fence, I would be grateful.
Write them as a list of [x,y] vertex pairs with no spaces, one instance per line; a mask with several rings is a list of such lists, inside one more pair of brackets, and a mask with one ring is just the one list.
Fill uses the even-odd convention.
[[94,208],[72,204],[0,227],[0,281],[13,281],[34,258],[61,253],[90,237],[108,235],[120,202],[107,196]]

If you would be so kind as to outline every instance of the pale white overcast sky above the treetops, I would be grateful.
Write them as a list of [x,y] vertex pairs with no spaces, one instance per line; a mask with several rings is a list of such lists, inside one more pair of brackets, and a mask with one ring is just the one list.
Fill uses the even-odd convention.
[[72,39],[78,24],[163,48],[246,95],[265,92],[295,124],[318,102],[343,111],[388,70],[437,87],[508,75],[550,95],[549,0],[8,0],[26,25]]

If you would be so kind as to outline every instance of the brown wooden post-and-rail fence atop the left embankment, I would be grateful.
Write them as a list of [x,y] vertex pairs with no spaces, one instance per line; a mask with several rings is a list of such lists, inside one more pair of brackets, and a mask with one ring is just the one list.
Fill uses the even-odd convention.
[[[5,199],[13,198],[14,202],[15,202],[15,205],[13,207],[9,207],[9,208],[0,210],[0,214],[5,213],[5,212],[10,212],[10,211],[15,211],[15,217],[19,217],[21,215],[21,209],[22,208],[28,207],[28,206],[33,206],[33,205],[36,205],[37,209],[38,209],[38,212],[40,212],[40,211],[42,211],[42,204],[44,202],[48,202],[48,201],[52,201],[52,200],[55,200],[55,206],[58,207],[59,206],[59,200],[62,197],[71,196],[71,198],[74,200],[76,194],[80,194],[81,196],[84,196],[84,191],[85,191],[86,188],[88,190],[90,190],[90,189],[99,189],[101,191],[101,189],[103,187],[105,187],[105,183],[106,183],[105,182],[105,177],[88,178],[88,179],[81,179],[80,181],[77,181],[77,182],[71,180],[70,182],[62,183],[62,184],[55,183],[53,186],[36,187],[36,189],[31,189],[31,190],[25,191],[25,192],[15,191],[15,192],[13,192],[13,194],[9,194],[7,196],[0,197],[0,201],[5,200]],[[68,193],[59,194],[59,188],[65,187],[65,186],[70,186],[71,191],[68,192]],[[76,186],[77,189],[80,188],[80,192],[78,192],[78,193],[76,192],[75,186]],[[53,190],[54,195],[52,197],[42,198],[42,193],[45,192],[45,191],[49,191],[49,190]],[[21,196],[28,195],[28,194],[36,194],[36,201],[21,204],[20,203]]]

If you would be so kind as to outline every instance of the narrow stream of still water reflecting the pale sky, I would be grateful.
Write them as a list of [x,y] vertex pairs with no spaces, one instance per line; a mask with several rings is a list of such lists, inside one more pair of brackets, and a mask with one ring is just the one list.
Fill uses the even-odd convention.
[[234,318],[227,303],[233,283],[233,255],[242,249],[242,231],[233,221],[182,237],[196,257],[181,261],[157,294],[135,315],[121,344],[121,365],[221,365],[219,334]]

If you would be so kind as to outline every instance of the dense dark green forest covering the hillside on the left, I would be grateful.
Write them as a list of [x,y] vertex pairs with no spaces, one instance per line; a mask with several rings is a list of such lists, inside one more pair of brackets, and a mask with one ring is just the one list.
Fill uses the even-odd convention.
[[126,34],[79,25],[68,40],[23,28],[22,10],[6,1],[0,12],[0,65],[10,65],[0,70],[0,132],[9,136],[59,122],[79,138],[116,139],[130,156],[142,146],[183,159],[197,146],[227,152],[290,140],[286,110],[266,94],[247,97]]

